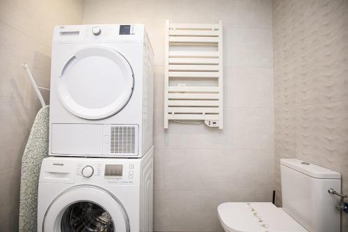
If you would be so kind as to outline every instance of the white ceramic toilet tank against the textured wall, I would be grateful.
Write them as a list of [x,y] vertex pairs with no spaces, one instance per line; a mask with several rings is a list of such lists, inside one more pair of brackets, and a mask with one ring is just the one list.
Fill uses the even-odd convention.
[[335,209],[341,175],[296,159],[280,160],[283,210],[310,232],[340,232],[340,211]]

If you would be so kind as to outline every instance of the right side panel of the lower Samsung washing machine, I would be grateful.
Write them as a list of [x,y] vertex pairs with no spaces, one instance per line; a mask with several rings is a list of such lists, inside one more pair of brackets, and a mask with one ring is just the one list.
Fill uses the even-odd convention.
[[140,231],[153,231],[153,147],[141,162]]

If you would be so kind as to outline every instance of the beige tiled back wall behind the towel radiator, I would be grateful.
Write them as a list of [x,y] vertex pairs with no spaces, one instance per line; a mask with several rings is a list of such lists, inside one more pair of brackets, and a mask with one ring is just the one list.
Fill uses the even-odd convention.
[[[86,0],[85,24],[143,23],[155,50],[155,231],[221,231],[224,201],[271,201],[271,1]],[[163,129],[164,22],[223,20],[225,128]]]

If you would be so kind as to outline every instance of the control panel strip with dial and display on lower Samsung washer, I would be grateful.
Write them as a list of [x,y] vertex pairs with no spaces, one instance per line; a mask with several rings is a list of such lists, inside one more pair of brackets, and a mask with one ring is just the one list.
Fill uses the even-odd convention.
[[49,157],[42,162],[40,182],[88,185],[138,185],[139,159]]

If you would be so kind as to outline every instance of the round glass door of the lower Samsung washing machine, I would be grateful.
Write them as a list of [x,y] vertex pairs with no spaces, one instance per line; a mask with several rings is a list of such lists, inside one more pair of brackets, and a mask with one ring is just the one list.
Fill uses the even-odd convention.
[[90,185],[72,187],[52,201],[44,232],[129,232],[122,203],[110,192]]

